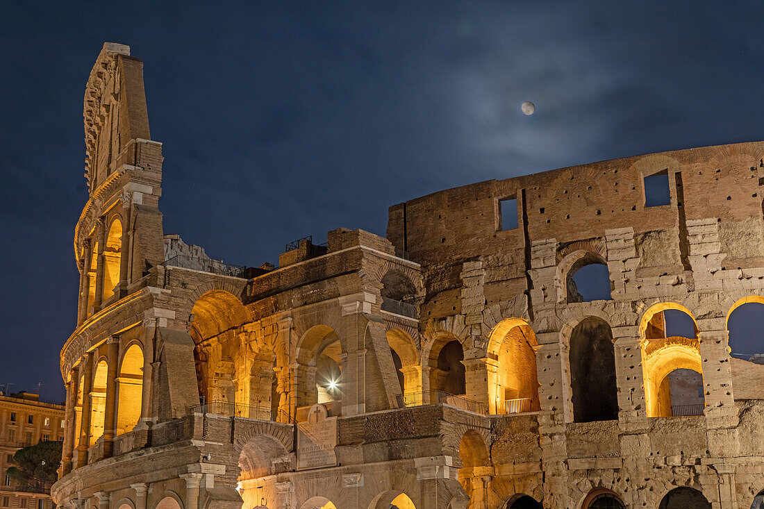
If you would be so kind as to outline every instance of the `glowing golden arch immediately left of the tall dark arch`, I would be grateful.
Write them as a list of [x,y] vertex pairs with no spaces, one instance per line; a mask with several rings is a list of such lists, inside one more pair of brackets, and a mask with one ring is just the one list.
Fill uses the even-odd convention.
[[495,413],[536,412],[539,380],[536,374],[536,335],[521,319],[506,319],[494,327],[488,355],[498,362],[495,385]]

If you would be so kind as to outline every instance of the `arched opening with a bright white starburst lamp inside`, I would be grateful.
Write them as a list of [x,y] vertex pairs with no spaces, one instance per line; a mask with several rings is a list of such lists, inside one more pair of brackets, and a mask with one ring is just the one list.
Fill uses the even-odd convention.
[[334,329],[311,327],[297,347],[297,406],[342,401],[342,345]]

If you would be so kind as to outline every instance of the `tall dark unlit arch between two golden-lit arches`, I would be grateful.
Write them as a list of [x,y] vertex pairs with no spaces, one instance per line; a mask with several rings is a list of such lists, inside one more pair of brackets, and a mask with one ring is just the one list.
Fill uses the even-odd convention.
[[577,423],[618,418],[613,333],[603,319],[589,316],[570,339],[571,400]]

